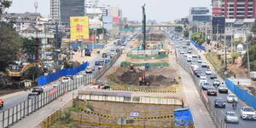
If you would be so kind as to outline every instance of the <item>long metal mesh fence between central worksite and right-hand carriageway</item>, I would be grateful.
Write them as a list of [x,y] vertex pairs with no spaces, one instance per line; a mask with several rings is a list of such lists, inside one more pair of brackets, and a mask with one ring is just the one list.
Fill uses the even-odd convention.
[[214,108],[212,102],[208,102],[209,98],[206,95],[206,93],[201,90],[201,85],[199,83],[199,80],[196,78],[195,74],[192,71],[192,68],[188,65],[188,63],[184,60],[181,59],[181,57],[179,57],[179,54],[177,53],[177,50],[175,50],[175,54],[176,54],[176,58],[177,58],[177,63],[183,67],[184,70],[186,70],[192,77],[194,83],[195,83],[195,87],[198,91],[198,93],[201,96],[201,100],[202,102],[205,104],[207,111],[210,113],[215,125],[218,128],[227,128],[226,123],[224,122],[224,120],[221,118],[220,114],[218,113],[218,111],[216,111],[216,109]]

